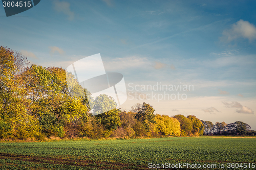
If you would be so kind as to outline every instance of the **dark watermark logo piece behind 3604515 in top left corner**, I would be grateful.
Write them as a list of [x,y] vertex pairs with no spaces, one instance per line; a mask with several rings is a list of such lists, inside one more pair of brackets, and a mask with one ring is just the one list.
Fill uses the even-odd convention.
[[8,16],[12,16],[12,15],[27,11],[30,8],[33,8],[40,2],[40,0],[30,0],[30,1],[2,0],[2,2],[5,9],[5,14],[8,17]]

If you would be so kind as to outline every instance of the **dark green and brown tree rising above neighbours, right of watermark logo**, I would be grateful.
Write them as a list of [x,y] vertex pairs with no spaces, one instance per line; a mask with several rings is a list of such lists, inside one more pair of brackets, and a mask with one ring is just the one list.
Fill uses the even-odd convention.
[[141,110],[135,114],[135,118],[140,121],[144,126],[147,132],[150,131],[150,124],[156,123],[154,114],[155,110],[150,104],[146,104],[145,102],[142,104]]

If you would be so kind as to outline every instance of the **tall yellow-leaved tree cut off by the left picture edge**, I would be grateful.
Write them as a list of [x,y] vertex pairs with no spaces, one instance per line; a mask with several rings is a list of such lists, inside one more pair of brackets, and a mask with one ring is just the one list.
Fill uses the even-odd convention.
[[26,58],[7,47],[0,47],[0,137],[37,138],[38,120],[26,106],[26,88],[21,76]]

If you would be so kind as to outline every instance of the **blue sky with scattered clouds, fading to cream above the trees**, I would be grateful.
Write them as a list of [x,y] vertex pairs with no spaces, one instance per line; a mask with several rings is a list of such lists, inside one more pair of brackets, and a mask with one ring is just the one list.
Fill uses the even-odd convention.
[[242,121],[256,130],[255,6],[44,0],[9,17],[0,7],[0,45],[45,67],[67,68],[100,53],[106,72],[123,75],[123,110],[146,102],[159,114]]

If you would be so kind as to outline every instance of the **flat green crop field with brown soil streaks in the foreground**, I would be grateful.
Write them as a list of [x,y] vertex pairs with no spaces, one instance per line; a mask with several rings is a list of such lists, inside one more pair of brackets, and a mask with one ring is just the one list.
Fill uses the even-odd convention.
[[[201,169],[256,169],[252,168],[256,163],[256,138],[168,137],[2,142],[0,156],[0,169],[150,169],[148,163],[217,166]],[[223,163],[225,168],[219,168]],[[234,168],[228,168],[228,163]],[[247,168],[244,168],[245,165]]]

